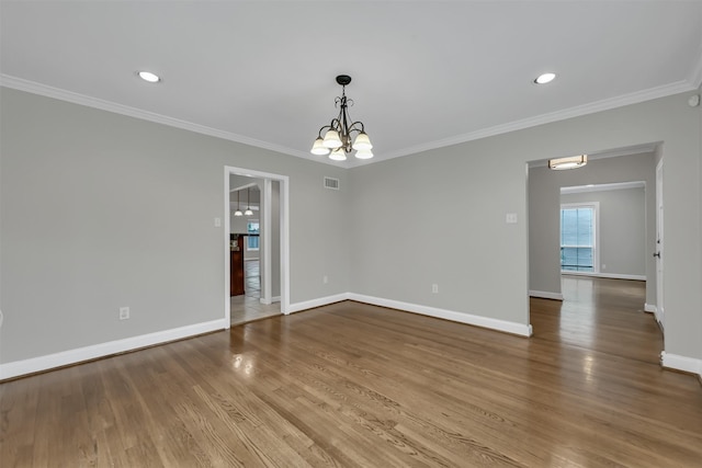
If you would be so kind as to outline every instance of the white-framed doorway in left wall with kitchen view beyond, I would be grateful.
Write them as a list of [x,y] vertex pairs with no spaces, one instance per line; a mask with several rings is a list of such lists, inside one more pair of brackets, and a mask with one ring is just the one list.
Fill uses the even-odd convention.
[[[288,178],[286,175],[253,171],[244,168],[225,167],[225,320],[234,323],[233,308],[237,311],[236,324],[269,317],[270,315],[288,313],[290,310],[290,241],[288,241]],[[260,272],[259,294],[240,295],[236,299],[230,296],[231,289],[231,228],[233,213],[230,193],[233,178],[260,184],[260,206],[258,220],[260,235],[256,242],[259,246],[258,269]],[[237,184],[238,185],[238,184]],[[244,184],[246,185],[246,184]],[[250,187],[250,185],[249,185]],[[250,192],[250,191],[249,191]],[[239,198],[240,199],[240,198]],[[248,206],[247,206],[248,207]],[[245,235],[247,232],[237,232]],[[236,236],[238,238],[238,236]],[[249,236],[242,237],[245,240]],[[249,241],[247,241],[248,247]],[[241,242],[240,248],[246,249]],[[253,266],[253,265],[252,265]],[[259,296],[259,297],[256,297]],[[238,303],[241,303],[240,305]],[[239,310],[241,306],[242,310]],[[242,313],[239,313],[242,312]]]

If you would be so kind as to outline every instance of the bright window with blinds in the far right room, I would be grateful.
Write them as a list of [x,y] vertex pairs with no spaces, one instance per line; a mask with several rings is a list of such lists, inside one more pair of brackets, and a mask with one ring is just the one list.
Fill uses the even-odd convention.
[[561,270],[595,273],[597,204],[561,206]]

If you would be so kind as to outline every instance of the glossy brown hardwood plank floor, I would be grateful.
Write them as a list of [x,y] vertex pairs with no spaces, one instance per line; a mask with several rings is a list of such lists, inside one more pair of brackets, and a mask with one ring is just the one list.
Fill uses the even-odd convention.
[[339,303],[0,385],[0,466],[700,467],[643,284],[564,277],[524,339]]

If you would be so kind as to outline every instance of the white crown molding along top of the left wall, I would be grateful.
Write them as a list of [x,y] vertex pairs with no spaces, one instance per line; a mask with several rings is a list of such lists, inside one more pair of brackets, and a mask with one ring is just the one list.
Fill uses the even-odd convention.
[[[190,130],[197,134],[207,135],[211,137],[216,137],[216,138],[226,139],[229,141],[249,145],[257,148],[268,149],[275,152],[282,152],[284,155],[295,156],[295,157],[308,159],[315,162],[322,162],[322,163],[327,162],[324,160],[319,160],[315,158],[314,155],[308,155],[304,151],[286,148],[280,145],[273,145],[273,144],[261,141],[254,138],[245,137],[242,135],[238,135],[231,132],[220,130],[217,128],[207,127],[205,125],[181,121],[179,118],[169,117],[169,116],[157,114],[154,112],[131,107],[128,105],[117,104],[112,101],[91,98],[84,94],[63,90],[59,88],[49,87],[46,84],[25,80],[23,78],[13,77],[10,75],[0,73],[0,85],[19,90],[19,91],[25,91],[33,94],[39,94],[46,98],[57,99],[59,101],[70,102],[72,104],[84,105],[87,107],[100,109],[102,111],[113,112],[115,114],[126,115],[129,117],[143,119],[143,121],[149,121],[156,124],[168,125],[170,127],[181,128],[184,130]],[[332,165],[337,165],[337,164],[332,164]]]

